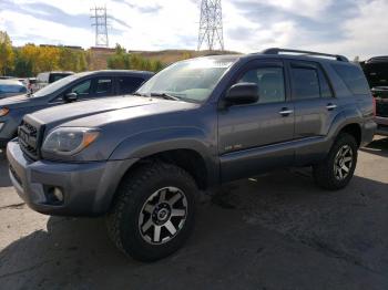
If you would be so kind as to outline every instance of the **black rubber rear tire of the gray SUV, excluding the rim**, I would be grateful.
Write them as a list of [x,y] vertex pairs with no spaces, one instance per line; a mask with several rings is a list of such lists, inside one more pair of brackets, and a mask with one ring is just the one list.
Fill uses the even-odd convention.
[[[347,176],[343,179],[338,179],[336,177],[336,169],[335,169],[335,163],[336,163],[336,156],[339,154],[339,151],[344,148],[344,146],[349,146],[353,151],[353,162],[351,166],[349,166],[349,172],[347,173]],[[357,164],[357,151],[358,145],[354,136],[347,133],[341,133],[335,143],[333,144],[330,152],[327,155],[327,158],[313,166],[313,176],[315,183],[325,189],[328,190],[338,190],[347,186],[355,173],[356,164]]]

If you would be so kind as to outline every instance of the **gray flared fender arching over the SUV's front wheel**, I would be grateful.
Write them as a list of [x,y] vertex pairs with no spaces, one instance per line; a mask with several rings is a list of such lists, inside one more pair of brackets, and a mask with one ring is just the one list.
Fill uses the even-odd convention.
[[109,159],[141,159],[174,149],[192,149],[205,162],[210,184],[219,179],[219,162],[214,141],[198,127],[165,127],[129,136],[112,152]]

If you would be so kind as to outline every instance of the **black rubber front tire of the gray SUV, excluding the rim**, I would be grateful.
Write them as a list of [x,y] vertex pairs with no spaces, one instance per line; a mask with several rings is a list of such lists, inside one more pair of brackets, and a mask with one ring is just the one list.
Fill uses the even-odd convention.
[[[169,241],[150,244],[140,226],[141,216],[144,217],[145,213],[144,206],[155,191],[170,187],[181,189],[185,197],[185,221],[181,229],[176,227],[175,236]],[[192,232],[195,218],[197,187],[192,176],[175,165],[156,162],[145,164],[124,177],[118,190],[118,197],[106,217],[106,225],[111,239],[120,250],[140,261],[155,261],[182,247]],[[151,216],[150,214],[149,221]],[[170,235],[166,228],[163,231]]]

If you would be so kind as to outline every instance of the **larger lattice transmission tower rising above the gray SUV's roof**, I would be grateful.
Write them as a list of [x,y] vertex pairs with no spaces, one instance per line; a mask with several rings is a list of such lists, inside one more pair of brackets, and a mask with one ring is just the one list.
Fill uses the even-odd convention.
[[223,12],[221,0],[202,0],[198,50],[206,43],[207,50],[224,50]]

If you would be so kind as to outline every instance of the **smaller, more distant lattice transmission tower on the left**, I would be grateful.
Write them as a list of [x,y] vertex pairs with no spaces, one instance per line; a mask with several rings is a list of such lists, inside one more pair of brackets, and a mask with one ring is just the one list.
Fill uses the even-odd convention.
[[94,7],[91,10],[92,27],[95,28],[95,46],[108,48],[108,15],[106,7]]

